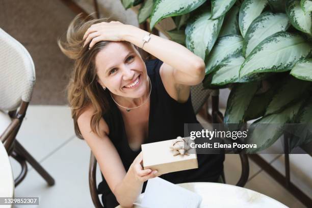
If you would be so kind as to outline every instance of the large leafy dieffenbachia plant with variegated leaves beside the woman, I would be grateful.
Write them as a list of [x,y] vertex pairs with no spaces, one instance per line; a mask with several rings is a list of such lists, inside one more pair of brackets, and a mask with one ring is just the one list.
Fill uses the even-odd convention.
[[[312,141],[312,1],[121,0],[141,4],[139,23],[150,28],[172,18],[167,31],[205,61],[205,88],[231,88],[224,123],[303,123],[291,148]],[[250,143],[263,150],[281,128],[253,129]]]

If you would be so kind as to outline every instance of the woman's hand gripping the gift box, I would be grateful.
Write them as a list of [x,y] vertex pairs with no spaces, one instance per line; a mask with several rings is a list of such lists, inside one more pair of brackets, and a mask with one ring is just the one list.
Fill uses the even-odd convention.
[[133,161],[130,167],[132,168],[137,180],[144,182],[150,178],[158,177],[161,175],[161,174],[158,174],[157,170],[151,170],[151,169],[144,170],[142,167],[142,163],[143,163],[143,153],[141,151],[136,157],[136,159]]

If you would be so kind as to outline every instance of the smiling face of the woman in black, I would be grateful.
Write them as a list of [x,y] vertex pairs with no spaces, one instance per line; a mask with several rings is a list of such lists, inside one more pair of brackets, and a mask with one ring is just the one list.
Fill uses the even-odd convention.
[[95,65],[99,84],[113,94],[138,98],[147,91],[146,66],[132,44],[108,43],[96,55]]

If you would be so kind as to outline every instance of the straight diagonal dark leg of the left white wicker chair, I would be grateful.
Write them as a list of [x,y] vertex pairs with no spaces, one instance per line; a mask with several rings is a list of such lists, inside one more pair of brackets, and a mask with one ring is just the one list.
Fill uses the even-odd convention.
[[32,157],[32,155],[15,139],[15,149],[18,154],[22,155],[31,166],[45,179],[49,186],[55,184],[55,180],[48,172]]

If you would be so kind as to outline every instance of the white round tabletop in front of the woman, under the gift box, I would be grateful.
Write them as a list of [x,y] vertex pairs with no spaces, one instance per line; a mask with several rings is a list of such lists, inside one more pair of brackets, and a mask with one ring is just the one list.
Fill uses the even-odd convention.
[[[196,182],[177,185],[199,194],[202,197],[199,207],[288,207],[264,194],[228,184]],[[139,203],[143,196],[144,193],[139,196]]]

